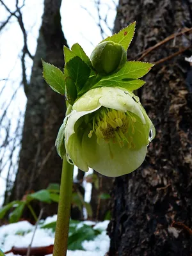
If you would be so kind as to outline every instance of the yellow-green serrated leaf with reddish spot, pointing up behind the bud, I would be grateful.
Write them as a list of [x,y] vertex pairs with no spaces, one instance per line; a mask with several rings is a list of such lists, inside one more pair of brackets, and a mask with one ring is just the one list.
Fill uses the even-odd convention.
[[129,26],[120,30],[117,34],[114,34],[113,36],[108,36],[106,39],[102,40],[102,42],[113,41],[116,44],[122,45],[125,51],[127,51],[127,48],[129,47],[134,36],[135,24],[136,22],[132,22]]

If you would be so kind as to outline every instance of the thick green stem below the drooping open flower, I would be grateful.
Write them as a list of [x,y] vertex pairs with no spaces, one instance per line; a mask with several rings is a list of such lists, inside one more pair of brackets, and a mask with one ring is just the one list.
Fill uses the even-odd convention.
[[56,223],[53,256],[65,256],[67,254],[73,170],[74,166],[72,164],[69,164],[66,157],[64,157],[61,174],[60,201],[58,206],[58,219]]

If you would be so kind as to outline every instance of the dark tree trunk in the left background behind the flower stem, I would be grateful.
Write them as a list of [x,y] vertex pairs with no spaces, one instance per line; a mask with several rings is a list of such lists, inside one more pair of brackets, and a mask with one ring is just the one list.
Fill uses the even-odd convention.
[[[11,200],[21,199],[27,191],[44,189],[49,183],[60,183],[61,159],[54,142],[65,116],[65,99],[53,92],[42,77],[42,59],[61,69],[64,66],[63,45],[67,42],[61,28],[60,6],[61,0],[44,1]],[[55,213],[56,209],[56,205],[49,207],[46,214]]]

